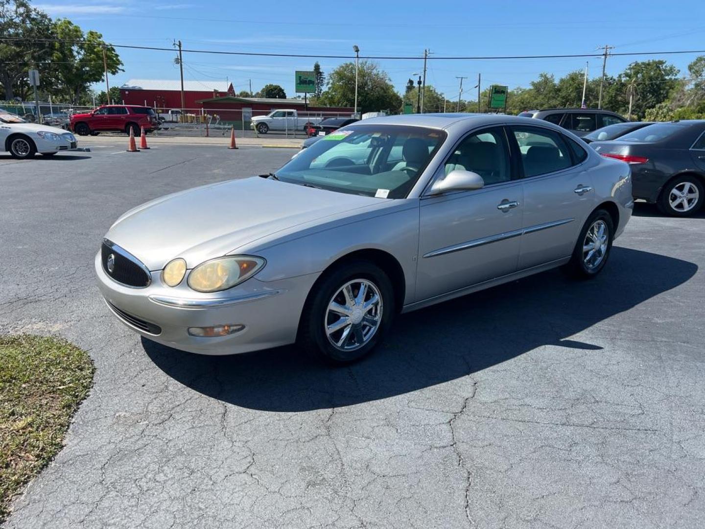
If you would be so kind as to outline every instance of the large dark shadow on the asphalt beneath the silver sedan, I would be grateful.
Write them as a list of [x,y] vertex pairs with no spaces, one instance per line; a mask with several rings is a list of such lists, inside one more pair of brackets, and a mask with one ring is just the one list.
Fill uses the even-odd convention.
[[600,349],[570,337],[685,283],[697,269],[614,247],[592,281],[552,270],[401,315],[385,343],[348,367],[326,366],[293,346],[215,357],[142,344],[170,377],[236,406],[288,412],[350,406],[448,382],[539,346]]

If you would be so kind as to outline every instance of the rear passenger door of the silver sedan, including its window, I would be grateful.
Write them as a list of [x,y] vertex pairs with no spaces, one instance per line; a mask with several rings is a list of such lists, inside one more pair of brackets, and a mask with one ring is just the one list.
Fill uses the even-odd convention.
[[567,136],[532,126],[510,128],[524,183],[518,269],[568,257],[595,206],[587,152]]

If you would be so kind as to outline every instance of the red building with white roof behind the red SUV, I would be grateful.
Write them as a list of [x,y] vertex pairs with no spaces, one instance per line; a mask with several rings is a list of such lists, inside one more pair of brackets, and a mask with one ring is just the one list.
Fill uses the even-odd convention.
[[[197,101],[209,97],[235,95],[233,84],[227,81],[208,80],[183,82],[185,109],[202,109]],[[120,97],[125,104],[140,104],[155,109],[181,108],[180,80],[130,79],[120,87]]]

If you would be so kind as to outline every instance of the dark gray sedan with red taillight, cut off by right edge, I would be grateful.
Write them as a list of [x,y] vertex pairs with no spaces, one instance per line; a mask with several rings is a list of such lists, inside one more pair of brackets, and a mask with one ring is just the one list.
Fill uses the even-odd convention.
[[705,120],[654,123],[615,141],[592,142],[604,157],[632,166],[635,198],[687,217],[705,198]]

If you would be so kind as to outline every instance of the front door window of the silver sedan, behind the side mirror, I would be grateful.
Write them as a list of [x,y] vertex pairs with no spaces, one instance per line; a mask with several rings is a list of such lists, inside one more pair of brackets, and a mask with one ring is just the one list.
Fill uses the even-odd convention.
[[472,133],[450,154],[445,169],[446,174],[455,169],[477,173],[486,186],[510,181],[512,176],[504,130],[490,128]]

